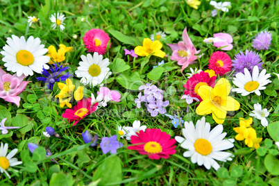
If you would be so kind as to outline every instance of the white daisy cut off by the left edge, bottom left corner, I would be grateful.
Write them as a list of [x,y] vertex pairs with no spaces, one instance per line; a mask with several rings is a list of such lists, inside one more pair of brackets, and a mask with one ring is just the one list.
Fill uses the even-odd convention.
[[[10,178],[10,174],[8,174],[7,170],[9,170],[9,167],[13,167],[18,164],[22,164],[22,162],[17,161],[17,158],[12,158],[16,153],[17,149],[13,149],[8,153],[8,144],[5,144],[3,146],[3,143],[1,142],[0,147],[0,171],[1,173],[5,172],[6,175]],[[7,155],[7,156],[6,156]]]

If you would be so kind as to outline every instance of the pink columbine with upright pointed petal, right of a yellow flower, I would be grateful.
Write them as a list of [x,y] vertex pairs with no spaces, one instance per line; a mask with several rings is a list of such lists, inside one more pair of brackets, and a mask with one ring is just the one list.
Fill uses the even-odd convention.
[[185,27],[183,31],[183,42],[178,42],[178,44],[168,44],[169,47],[171,47],[171,50],[173,51],[172,56],[170,56],[171,60],[178,61],[178,65],[182,65],[181,71],[188,67],[188,65],[196,63],[196,59],[198,59],[201,56],[195,56],[195,54],[198,54],[200,52],[196,50],[194,47],[194,44],[192,43],[188,33],[187,28]]

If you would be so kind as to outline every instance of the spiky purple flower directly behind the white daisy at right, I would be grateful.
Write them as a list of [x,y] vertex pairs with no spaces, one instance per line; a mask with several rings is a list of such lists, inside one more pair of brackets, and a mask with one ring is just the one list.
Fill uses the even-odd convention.
[[242,52],[235,54],[235,59],[232,60],[232,66],[235,69],[235,73],[242,72],[244,74],[244,68],[252,73],[253,67],[255,66],[259,67],[259,70],[262,69],[261,61],[262,59],[255,51],[248,51],[246,49],[245,55]]

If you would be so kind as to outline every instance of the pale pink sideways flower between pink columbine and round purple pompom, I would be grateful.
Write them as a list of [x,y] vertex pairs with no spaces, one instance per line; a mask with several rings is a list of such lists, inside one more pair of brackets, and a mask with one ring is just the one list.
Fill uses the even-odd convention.
[[214,47],[224,47],[223,51],[230,51],[233,49],[233,37],[228,33],[214,33],[213,37],[205,38],[203,42],[213,42]]

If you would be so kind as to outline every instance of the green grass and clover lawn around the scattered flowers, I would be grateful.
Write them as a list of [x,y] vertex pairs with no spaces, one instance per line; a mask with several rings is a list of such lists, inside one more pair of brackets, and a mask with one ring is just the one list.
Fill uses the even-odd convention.
[[[130,69],[122,74],[130,76],[137,72],[140,75],[140,81],[153,82],[164,90],[164,100],[170,100],[167,113],[180,115],[185,121],[193,121],[195,124],[198,119],[201,119],[201,116],[195,113],[196,105],[190,105],[191,112],[187,113],[187,104],[180,101],[180,96],[184,94],[183,84],[187,81],[185,73],[190,72],[189,67],[207,69],[211,53],[217,51],[212,44],[203,42],[205,37],[212,37],[213,33],[219,32],[230,33],[234,39],[234,47],[226,53],[233,58],[240,51],[253,49],[251,42],[258,32],[271,31],[273,40],[270,49],[259,51],[259,54],[264,62],[263,67],[267,69],[268,73],[279,73],[279,1],[235,0],[232,1],[232,8],[229,12],[219,12],[216,17],[211,17],[211,10],[213,10],[212,6],[209,1],[205,0],[201,1],[198,10],[187,6],[185,1],[167,0],[88,2],[5,0],[0,2],[0,47],[6,44],[6,38],[11,35],[24,35],[26,38],[31,35],[40,37],[45,47],[54,45],[58,49],[60,43],[67,47],[74,47],[74,51],[67,54],[65,62],[63,62],[70,67],[71,74],[74,74],[81,55],[87,54],[82,37],[91,28],[101,28],[109,33],[110,42],[112,42],[111,48],[104,55],[105,58],[109,58],[110,62],[115,61],[116,58],[124,59]],[[67,17],[66,28],[63,32],[51,29],[49,17],[54,12],[62,12]],[[40,22],[28,27],[27,16],[33,15],[39,17]],[[83,18],[84,22],[82,22]],[[165,70],[158,81],[151,81],[147,74],[154,65],[158,65],[161,58],[152,56],[146,65],[142,65],[146,58],[139,57],[133,60],[124,55],[123,49],[134,49],[136,45],[121,42],[119,38],[110,34],[111,30],[119,31],[135,38],[135,41],[140,44],[144,37],[149,37],[157,31],[164,31],[167,37],[162,41],[162,51],[171,56],[171,49],[167,44],[182,40],[185,26],[187,26],[187,32],[194,46],[196,49],[201,49],[204,55],[198,60],[198,63],[187,67],[183,74],[176,62],[169,60],[169,57],[164,58],[169,70]],[[77,39],[74,39],[74,35],[77,35]],[[4,62],[1,61],[1,67],[3,64]],[[20,94],[22,101],[19,108],[12,103],[7,107],[7,102],[1,99],[0,105],[3,106],[1,113],[3,114],[0,113],[0,119],[9,115],[8,113],[10,113],[10,118],[25,115],[32,127],[24,135],[21,135],[19,130],[13,130],[13,135],[0,138],[1,142],[9,144],[9,149],[19,149],[15,157],[24,162],[15,168],[19,170],[18,173],[10,171],[12,176],[10,180],[5,174],[0,174],[0,185],[57,185],[59,180],[65,181],[60,183],[61,185],[89,185],[90,183],[94,185],[92,179],[97,172],[97,167],[113,155],[103,154],[99,146],[92,148],[84,144],[81,137],[84,130],[89,130],[92,135],[98,134],[99,142],[101,142],[101,137],[115,135],[117,126],[131,126],[137,119],[147,128],[160,128],[169,133],[172,138],[176,135],[182,136],[181,128],[174,128],[171,120],[164,115],[150,117],[146,108],[137,109],[135,98],[139,92],[123,87],[116,80],[120,74],[112,74],[112,78],[108,79],[106,86],[121,92],[121,102],[110,103],[106,108],[96,110],[92,115],[80,121],[77,126],[72,127],[61,116],[65,112],[65,108],[60,108],[59,103],[54,99],[59,92],[58,87],[56,86],[54,91],[50,92],[44,83],[36,80],[37,76],[40,74],[26,78],[26,81],[32,82]],[[227,78],[231,83],[233,74]],[[79,79],[74,78],[74,80],[76,80],[74,83],[79,85]],[[233,95],[242,106],[241,110],[231,112],[223,124],[224,132],[228,133],[227,138],[235,137],[233,127],[239,125],[238,117],[248,117],[248,113],[253,110],[254,103],[261,103],[264,108],[271,110],[271,115],[268,117],[269,123],[278,120],[279,107],[276,91],[279,90],[279,82],[274,74],[271,81],[273,83],[267,86],[267,91],[262,91],[261,96],[255,96],[255,94],[250,97]],[[169,87],[174,87],[175,91],[171,92]],[[91,92],[96,94],[98,90],[98,87],[87,87],[84,93],[85,96],[90,96]],[[34,103],[28,99],[30,94],[35,95]],[[31,105],[24,105],[24,103]],[[41,117],[38,117],[39,112],[43,113]],[[206,119],[212,128],[216,125],[211,115],[208,115]],[[256,129],[258,137],[263,137],[263,141],[271,138],[267,128],[262,128],[259,120],[254,119],[253,122],[253,128]],[[47,126],[56,128],[60,138],[45,138],[42,131]],[[27,126],[25,127],[27,128]],[[124,148],[118,149],[116,154],[119,158],[117,161],[121,162],[121,180],[117,180],[119,177],[111,174],[111,177],[108,178],[111,180],[111,185],[268,185],[268,183],[276,185],[276,182],[278,183],[278,178],[264,167],[264,158],[267,155],[259,156],[255,150],[251,151],[247,148],[244,142],[235,142],[235,147],[228,150],[235,155],[235,158],[232,162],[218,162],[223,168],[217,172],[214,169],[207,170],[197,164],[192,164],[190,158],[183,157],[185,149],[179,146],[176,148],[176,154],[171,155],[171,158],[167,160],[150,160],[146,155],[126,149],[130,142],[120,139],[120,137],[119,140],[124,144]],[[34,155],[32,157],[27,149],[28,142],[40,144],[44,148],[49,147],[53,156],[37,159]],[[267,146],[267,143],[262,142],[261,146]],[[274,142],[271,149],[276,149]],[[32,160],[30,160],[31,157]],[[59,164],[51,162],[51,158],[56,158]],[[113,165],[113,162],[110,163]],[[105,171],[112,170],[113,172],[119,166],[116,163],[115,167],[112,165],[110,167],[107,163],[106,168],[108,169]],[[105,165],[103,164],[103,166]],[[241,172],[238,171],[239,169],[243,173],[237,175],[237,172]]]

